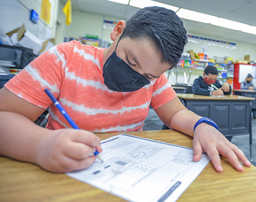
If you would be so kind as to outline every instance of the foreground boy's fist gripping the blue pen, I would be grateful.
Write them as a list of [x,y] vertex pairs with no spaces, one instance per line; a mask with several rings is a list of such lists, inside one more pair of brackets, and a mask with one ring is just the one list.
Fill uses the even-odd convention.
[[36,164],[55,173],[81,170],[96,159],[95,148],[102,152],[100,138],[88,131],[59,129],[45,134],[38,145]]

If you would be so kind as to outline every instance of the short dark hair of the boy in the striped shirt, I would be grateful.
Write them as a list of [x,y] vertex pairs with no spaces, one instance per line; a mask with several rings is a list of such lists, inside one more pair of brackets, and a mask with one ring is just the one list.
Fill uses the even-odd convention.
[[157,6],[145,7],[132,15],[122,37],[148,38],[161,52],[161,62],[172,67],[178,64],[188,42],[187,31],[176,13]]

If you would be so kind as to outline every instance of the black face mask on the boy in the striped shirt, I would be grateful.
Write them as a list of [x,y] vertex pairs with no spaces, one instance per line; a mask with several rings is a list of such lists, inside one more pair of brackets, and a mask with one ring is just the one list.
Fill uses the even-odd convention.
[[116,92],[133,92],[150,83],[116,55],[116,48],[103,66],[103,77],[108,89]]

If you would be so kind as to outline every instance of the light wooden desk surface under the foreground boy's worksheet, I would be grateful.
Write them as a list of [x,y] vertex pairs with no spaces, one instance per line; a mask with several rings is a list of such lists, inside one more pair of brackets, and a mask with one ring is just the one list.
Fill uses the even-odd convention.
[[[101,140],[121,133],[99,134]],[[173,130],[130,132],[135,136],[192,147],[192,138]],[[180,196],[182,201],[253,201],[256,199],[256,168],[236,171],[221,156],[223,173],[217,173],[212,162]],[[0,201],[100,201],[124,199],[101,191],[91,185],[54,174],[26,162],[0,156]]]

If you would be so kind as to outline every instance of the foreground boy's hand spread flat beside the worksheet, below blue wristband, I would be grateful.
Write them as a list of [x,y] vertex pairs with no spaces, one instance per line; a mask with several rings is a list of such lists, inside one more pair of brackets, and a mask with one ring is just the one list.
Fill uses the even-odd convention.
[[208,124],[200,124],[195,129],[195,136],[193,138],[193,161],[199,161],[202,157],[202,153],[209,155],[215,170],[220,173],[223,171],[220,162],[220,154],[227,157],[237,171],[244,170],[239,160],[243,162],[244,166],[251,166],[251,162],[246,159],[243,152],[237,148],[236,145],[230,143],[223,134]]

